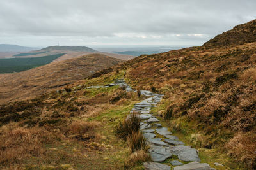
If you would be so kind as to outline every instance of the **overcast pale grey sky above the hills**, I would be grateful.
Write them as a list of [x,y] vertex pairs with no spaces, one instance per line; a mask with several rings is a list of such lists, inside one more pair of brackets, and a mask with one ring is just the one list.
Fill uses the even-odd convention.
[[0,44],[200,46],[256,18],[255,0],[1,0]]

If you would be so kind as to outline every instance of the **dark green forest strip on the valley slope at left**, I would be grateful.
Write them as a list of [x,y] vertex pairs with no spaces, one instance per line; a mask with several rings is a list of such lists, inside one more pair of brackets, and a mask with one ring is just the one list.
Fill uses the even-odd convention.
[[65,55],[65,53],[47,55],[44,57],[0,59],[0,74],[20,72],[38,66],[43,66],[45,64],[49,64],[52,60],[55,60],[62,55]]

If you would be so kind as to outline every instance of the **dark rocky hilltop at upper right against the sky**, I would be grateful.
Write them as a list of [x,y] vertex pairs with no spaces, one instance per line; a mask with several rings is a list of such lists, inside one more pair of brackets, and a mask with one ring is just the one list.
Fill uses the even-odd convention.
[[243,45],[244,43],[252,43],[256,41],[256,20],[252,20],[246,24],[237,25],[233,29],[223,32],[215,38],[204,43],[203,46],[229,46]]

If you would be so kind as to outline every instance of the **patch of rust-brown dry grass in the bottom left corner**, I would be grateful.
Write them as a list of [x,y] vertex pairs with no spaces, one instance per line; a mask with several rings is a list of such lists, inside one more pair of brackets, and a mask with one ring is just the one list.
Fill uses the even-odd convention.
[[29,157],[45,154],[45,144],[56,143],[61,136],[42,128],[6,125],[0,130],[0,167],[21,164]]

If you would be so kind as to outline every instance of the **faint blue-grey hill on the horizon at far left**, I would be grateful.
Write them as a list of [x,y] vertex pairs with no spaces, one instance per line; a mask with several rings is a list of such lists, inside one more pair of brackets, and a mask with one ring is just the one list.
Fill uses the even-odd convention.
[[0,52],[29,52],[38,49],[39,48],[31,48],[19,45],[0,44]]

